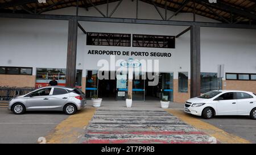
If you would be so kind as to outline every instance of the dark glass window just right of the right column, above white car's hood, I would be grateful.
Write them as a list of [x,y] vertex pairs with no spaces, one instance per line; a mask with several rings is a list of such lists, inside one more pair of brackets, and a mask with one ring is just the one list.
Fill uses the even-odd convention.
[[201,93],[221,88],[222,82],[220,78],[217,78],[217,73],[201,73]]

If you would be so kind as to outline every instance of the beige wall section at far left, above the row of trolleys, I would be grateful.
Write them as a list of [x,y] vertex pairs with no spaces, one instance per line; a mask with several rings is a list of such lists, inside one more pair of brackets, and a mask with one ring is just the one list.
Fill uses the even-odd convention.
[[0,75],[0,86],[9,87],[35,87],[35,76]]

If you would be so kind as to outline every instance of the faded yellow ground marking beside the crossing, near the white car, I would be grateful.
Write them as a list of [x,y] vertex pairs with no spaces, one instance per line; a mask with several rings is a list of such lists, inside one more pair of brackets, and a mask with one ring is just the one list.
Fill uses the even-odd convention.
[[224,143],[224,144],[230,144],[230,143],[249,144],[250,143],[250,141],[248,140],[245,140],[245,139],[242,139],[241,137],[227,133],[222,129],[217,128],[209,123],[205,123],[197,118],[193,118],[192,116],[185,114],[181,110],[167,109],[166,111],[177,116],[178,118],[183,120],[185,123],[192,125],[193,127],[199,129],[200,131],[203,131],[207,135],[215,137],[217,141],[220,141],[220,143]]

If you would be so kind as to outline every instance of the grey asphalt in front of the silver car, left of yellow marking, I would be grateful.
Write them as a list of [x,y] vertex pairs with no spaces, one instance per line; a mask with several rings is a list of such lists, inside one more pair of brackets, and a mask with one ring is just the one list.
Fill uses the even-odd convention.
[[0,108],[0,143],[38,143],[57,124],[68,118],[63,112],[26,112],[14,115]]

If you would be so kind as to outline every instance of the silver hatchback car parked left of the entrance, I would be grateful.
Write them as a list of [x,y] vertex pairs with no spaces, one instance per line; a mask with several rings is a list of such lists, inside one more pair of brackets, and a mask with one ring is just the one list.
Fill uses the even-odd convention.
[[11,99],[8,109],[14,114],[24,114],[25,111],[64,111],[72,115],[85,105],[85,95],[80,89],[48,86]]

